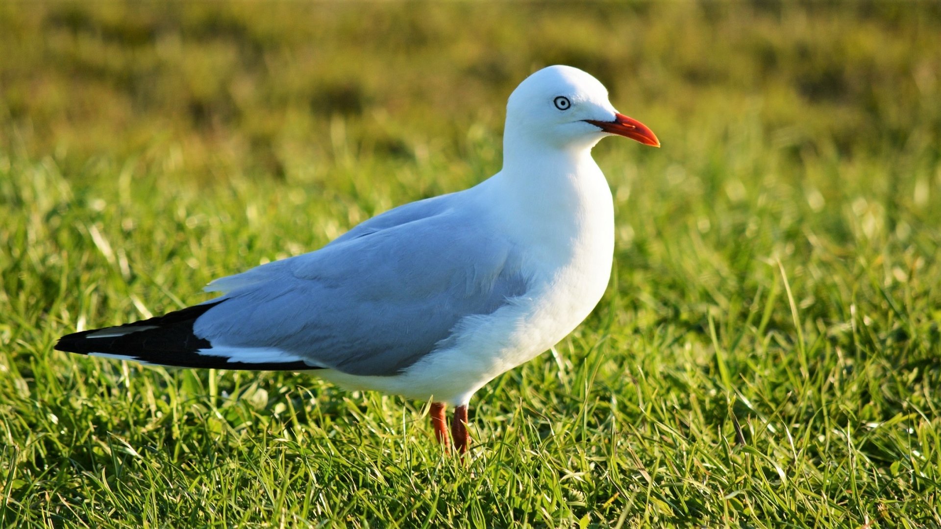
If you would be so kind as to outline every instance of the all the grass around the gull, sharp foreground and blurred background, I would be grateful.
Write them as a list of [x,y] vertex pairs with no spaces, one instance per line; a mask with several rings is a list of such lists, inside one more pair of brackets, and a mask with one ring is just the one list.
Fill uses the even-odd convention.
[[[934,3],[0,4],[0,527],[941,525]],[[471,402],[52,350],[500,167],[596,74],[598,309]]]

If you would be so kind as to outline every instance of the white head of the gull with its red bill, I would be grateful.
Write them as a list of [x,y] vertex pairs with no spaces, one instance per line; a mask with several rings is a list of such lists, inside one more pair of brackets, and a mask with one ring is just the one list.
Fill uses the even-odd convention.
[[505,134],[556,149],[590,149],[610,135],[660,147],[643,123],[614,109],[598,79],[570,66],[543,68],[513,90]]

